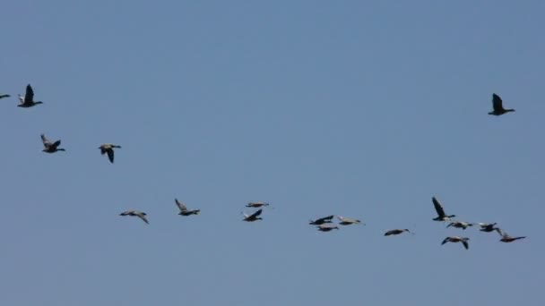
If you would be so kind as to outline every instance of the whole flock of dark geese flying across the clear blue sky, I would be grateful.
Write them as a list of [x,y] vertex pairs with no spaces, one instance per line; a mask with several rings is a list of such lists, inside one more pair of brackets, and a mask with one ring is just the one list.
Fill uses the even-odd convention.
[[[0,99],[1,98],[10,98],[10,97],[11,96],[7,95],[7,94],[0,94]],[[34,100],[34,90],[30,86],[30,84],[28,84],[27,87],[26,87],[26,92],[25,92],[24,97],[22,97],[21,95],[18,95],[18,98],[19,98],[19,102],[20,102],[19,105],[18,105],[19,107],[28,108],[28,107],[32,107],[32,106],[37,106],[39,104],[43,104],[42,101],[35,101]],[[505,115],[506,113],[510,113],[510,112],[515,112],[515,109],[508,109],[508,108],[506,109],[506,108],[504,108],[502,99],[497,94],[495,94],[495,93],[492,94],[492,111],[489,112],[489,115],[497,115],[498,116],[498,115]],[[42,149],[43,152],[56,153],[58,151],[65,151],[65,149],[59,148],[60,145],[61,145],[61,140],[55,140],[55,141],[48,140],[48,138],[46,138],[46,136],[44,134],[41,134],[40,138],[41,138],[42,143],[44,145],[44,149]],[[113,164],[114,163],[114,149],[121,149],[121,146],[116,145],[116,144],[112,144],[112,143],[103,143],[103,144],[101,144],[99,146],[98,149],[100,149],[100,154],[101,155],[107,155],[109,162]],[[177,205],[177,208],[179,209],[178,215],[180,215],[180,216],[188,217],[188,216],[192,216],[192,215],[199,215],[201,213],[201,209],[189,209],[181,201],[179,201],[177,199],[175,199],[174,201],[175,201],[175,203]],[[497,223],[469,223],[469,222],[454,220],[454,217],[456,217],[456,216],[455,215],[447,215],[445,213],[445,210],[443,209],[443,206],[441,205],[439,200],[437,200],[436,197],[432,197],[431,201],[432,201],[432,203],[434,205],[434,208],[436,209],[436,212],[437,212],[437,217],[433,218],[433,220],[438,221],[438,222],[448,223],[448,225],[446,225],[446,227],[451,227],[452,226],[452,227],[455,227],[455,228],[460,228],[462,230],[465,230],[468,227],[471,227],[473,225],[478,225],[478,226],[480,226],[480,232],[483,232],[483,233],[497,232],[497,234],[499,234],[500,237],[501,237],[500,240],[499,240],[500,242],[515,242],[517,240],[521,240],[521,239],[526,238],[525,236],[511,236],[511,235],[507,234],[504,230],[497,227]],[[246,214],[246,213],[243,213],[243,216],[244,216],[243,219],[242,219],[243,221],[255,222],[255,221],[263,220],[261,215],[262,215],[262,213],[264,211],[264,208],[270,207],[270,205],[269,205],[269,203],[266,203],[266,202],[249,202],[246,207],[247,208],[259,208],[259,209],[255,210],[255,212],[253,212],[252,214],[249,214],[249,215]],[[145,222],[146,224],[149,224],[147,214],[145,212],[143,212],[143,211],[140,211],[140,210],[136,210],[136,209],[126,210],[126,211],[120,213],[119,216],[139,217],[140,219],[143,220],[143,222]],[[309,225],[316,225],[317,230],[320,231],[320,232],[331,232],[333,230],[339,230],[339,228],[340,228],[339,225],[343,225],[343,226],[346,226],[346,225],[365,225],[358,219],[350,218],[350,217],[342,217],[342,216],[337,216],[337,219],[339,220],[339,222],[338,222],[338,224],[334,224],[333,223],[333,217],[334,217],[333,215],[327,216],[327,217],[320,217],[320,218],[317,218],[316,220],[310,220],[310,222],[308,224]],[[385,236],[399,235],[399,234],[403,234],[403,233],[414,234],[409,229],[404,228],[404,229],[388,230],[388,231],[385,232]],[[469,250],[469,241],[470,241],[469,237],[448,236],[443,240],[443,242],[441,242],[441,245],[445,244],[446,242],[461,242],[463,247],[466,250]]]

